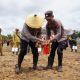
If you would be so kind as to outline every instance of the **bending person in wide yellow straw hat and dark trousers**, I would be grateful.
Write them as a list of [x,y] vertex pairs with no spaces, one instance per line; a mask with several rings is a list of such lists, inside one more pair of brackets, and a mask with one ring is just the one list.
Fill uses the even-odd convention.
[[43,25],[44,19],[38,15],[27,16],[24,23],[24,27],[21,32],[21,44],[20,44],[20,54],[18,56],[18,64],[16,65],[16,73],[21,71],[21,63],[24,56],[27,54],[28,45],[31,47],[33,54],[33,69],[37,69],[38,62],[38,49],[36,47],[37,41],[42,41],[39,39],[41,34],[41,26]]

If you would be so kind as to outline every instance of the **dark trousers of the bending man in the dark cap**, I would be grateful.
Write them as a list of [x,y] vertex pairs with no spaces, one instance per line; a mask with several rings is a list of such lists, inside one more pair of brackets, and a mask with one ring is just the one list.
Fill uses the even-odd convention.
[[52,42],[51,52],[50,52],[50,55],[48,57],[48,66],[52,67],[56,50],[57,50],[57,55],[58,55],[58,66],[62,66],[64,46],[65,46],[64,41],[62,41],[62,42],[57,42],[57,41]]

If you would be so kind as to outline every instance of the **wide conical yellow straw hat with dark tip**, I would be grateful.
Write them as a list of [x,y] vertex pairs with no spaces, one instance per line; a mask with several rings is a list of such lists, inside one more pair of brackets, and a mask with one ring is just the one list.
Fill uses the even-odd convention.
[[44,23],[44,18],[39,15],[29,15],[26,17],[25,23],[31,28],[41,28]]

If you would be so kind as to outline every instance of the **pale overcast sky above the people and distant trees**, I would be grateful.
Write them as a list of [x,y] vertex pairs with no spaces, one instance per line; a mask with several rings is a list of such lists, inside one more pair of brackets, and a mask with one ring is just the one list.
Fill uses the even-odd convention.
[[25,16],[52,10],[66,29],[80,30],[80,0],[0,0],[0,27],[3,34],[23,27]]

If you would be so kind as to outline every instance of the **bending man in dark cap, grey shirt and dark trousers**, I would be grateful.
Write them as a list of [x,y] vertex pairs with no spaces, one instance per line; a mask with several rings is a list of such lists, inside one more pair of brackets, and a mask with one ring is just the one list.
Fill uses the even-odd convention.
[[[62,58],[63,58],[63,49],[65,45],[65,36],[64,36],[64,28],[60,21],[54,19],[54,15],[52,11],[47,11],[45,13],[45,19],[47,20],[46,31],[47,31],[47,39],[51,42],[51,51],[48,57],[48,64],[45,69],[52,69],[54,63],[55,52],[57,50],[58,54],[58,67],[57,70],[59,72],[62,71]],[[53,39],[50,39],[51,30],[54,33]]]

